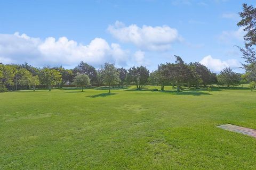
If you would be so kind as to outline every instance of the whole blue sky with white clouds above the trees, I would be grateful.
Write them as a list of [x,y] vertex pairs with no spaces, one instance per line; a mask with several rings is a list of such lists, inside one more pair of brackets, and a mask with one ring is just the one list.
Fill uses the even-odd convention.
[[255,1],[0,1],[0,62],[72,68],[83,60],[129,68],[201,62],[237,72],[243,46],[236,23]]

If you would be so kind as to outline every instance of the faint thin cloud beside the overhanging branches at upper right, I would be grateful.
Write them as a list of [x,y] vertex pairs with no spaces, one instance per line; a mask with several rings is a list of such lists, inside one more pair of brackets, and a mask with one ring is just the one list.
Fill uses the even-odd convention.
[[233,40],[242,41],[244,37],[244,28],[240,27],[238,30],[235,31],[223,31],[219,36],[219,40],[222,43],[229,43]]

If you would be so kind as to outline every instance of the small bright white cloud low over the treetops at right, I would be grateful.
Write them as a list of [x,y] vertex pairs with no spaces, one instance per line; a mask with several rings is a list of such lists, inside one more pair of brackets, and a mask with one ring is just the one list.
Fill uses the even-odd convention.
[[231,67],[232,69],[237,69],[238,67],[241,66],[241,64],[237,60],[231,59],[231,60],[222,61],[217,58],[212,58],[211,55],[205,56],[200,61],[200,63],[205,65],[211,71],[214,71],[214,72],[220,72],[225,67]]

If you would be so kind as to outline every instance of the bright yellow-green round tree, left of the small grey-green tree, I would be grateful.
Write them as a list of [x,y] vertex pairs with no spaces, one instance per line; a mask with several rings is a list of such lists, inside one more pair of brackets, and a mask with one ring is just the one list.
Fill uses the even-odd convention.
[[41,70],[39,80],[42,84],[48,86],[49,91],[51,91],[53,85],[57,85],[61,82],[61,74],[58,70],[44,67],[44,69]]

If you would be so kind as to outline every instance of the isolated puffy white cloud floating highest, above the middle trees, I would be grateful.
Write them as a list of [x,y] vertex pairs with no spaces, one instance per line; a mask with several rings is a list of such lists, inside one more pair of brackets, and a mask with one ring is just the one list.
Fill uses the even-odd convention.
[[167,25],[151,27],[143,25],[142,28],[135,24],[126,27],[124,23],[116,21],[109,25],[108,32],[123,43],[133,43],[141,49],[167,50],[175,41],[180,41],[178,30]]

